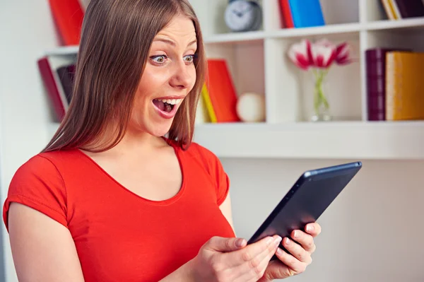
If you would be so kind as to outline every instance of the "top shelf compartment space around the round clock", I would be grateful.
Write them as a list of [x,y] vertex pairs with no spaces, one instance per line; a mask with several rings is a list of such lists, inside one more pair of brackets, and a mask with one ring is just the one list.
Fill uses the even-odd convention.
[[[228,6],[228,0],[190,0],[196,16],[199,18],[202,33],[204,37],[213,37],[214,35],[222,34],[237,34],[232,32],[230,28],[225,24],[225,9]],[[264,8],[262,5],[262,0],[256,1],[261,7],[262,11],[262,22],[264,18]],[[259,30],[263,30],[263,24],[261,23]],[[244,32],[241,32],[244,33]]]

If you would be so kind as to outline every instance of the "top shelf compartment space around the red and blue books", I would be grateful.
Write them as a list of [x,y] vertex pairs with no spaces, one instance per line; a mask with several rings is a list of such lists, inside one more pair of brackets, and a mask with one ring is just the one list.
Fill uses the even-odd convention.
[[[267,31],[285,29],[280,1],[281,0],[269,0],[266,2],[264,11],[266,11],[267,16],[265,18],[264,25]],[[358,0],[320,0],[319,2],[321,4],[325,26],[344,23],[359,23]]]

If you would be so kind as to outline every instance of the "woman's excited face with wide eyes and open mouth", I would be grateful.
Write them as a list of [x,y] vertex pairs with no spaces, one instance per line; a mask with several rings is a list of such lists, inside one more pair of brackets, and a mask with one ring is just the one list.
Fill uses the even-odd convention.
[[163,136],[196,81],[196,32],[189,18],[175,16],[153,40],[136,93],[130,129]]

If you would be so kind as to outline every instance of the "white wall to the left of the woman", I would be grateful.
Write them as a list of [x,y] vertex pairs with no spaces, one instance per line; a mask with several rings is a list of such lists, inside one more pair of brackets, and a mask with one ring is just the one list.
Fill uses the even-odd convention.
[[[50,119],[36,60],[56,46],[48,1],[0,1],[1,205],[13,173],[47,143]],[[3,233],[6,281],[17,281]]]

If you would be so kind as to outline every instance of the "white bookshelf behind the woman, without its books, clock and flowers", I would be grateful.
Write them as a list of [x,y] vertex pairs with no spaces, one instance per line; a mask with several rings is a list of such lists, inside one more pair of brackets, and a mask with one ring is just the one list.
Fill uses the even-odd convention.
[[[424,159],[424,121],[367,122],[365,60],[372,47],[424,51],[424,18],[388,20],[380,0],[321,0],[325,26],[281,28],[278,0],[259,1],[264,22],[257,31],[231,33],[223,20],[228,0],[191,0],[208,57],[228,61],[237,93],[265,96],[266,122],[199,124],[195,141],[223,158]],[[303,38],[348,41],[358,61],[331,69],[326,90],[334,121],[312,115],[312,77],[287,57]],[[78,46],[47,50],[76,54]],[[57,124],[52,125],[52,130]]]

